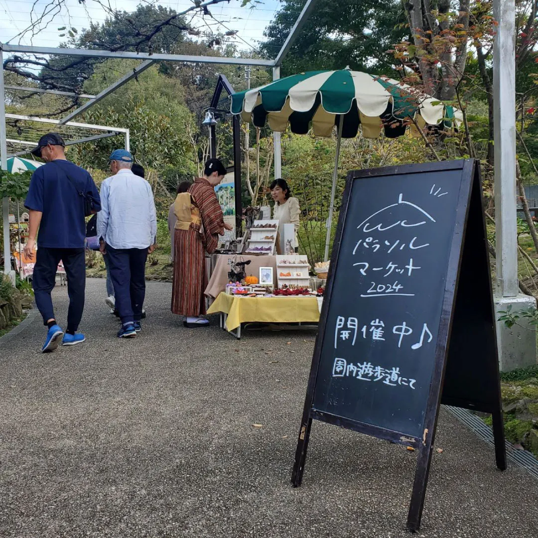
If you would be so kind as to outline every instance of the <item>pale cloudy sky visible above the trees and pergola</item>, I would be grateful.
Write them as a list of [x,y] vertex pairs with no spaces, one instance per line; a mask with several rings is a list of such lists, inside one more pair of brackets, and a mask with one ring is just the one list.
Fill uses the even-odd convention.
[[[37,0],[34,7],[34,20],[41,16],[47,5],[59,0]],[[63,0],[62,0],[63,1]],[[112,8],[125,11],[134,11],[140,3],[160,4],[176,11],[183,11],[192,5],[190,0],[108,0]],[[75,27],[77,30],[87,28],[90,21],[101,23],[104,21],[106,13],[95,0],[86,0],[79,4],[79,0],[65,0],[61,12],[54,10],[49,13],[40,25],[40,31],[32,38],[31,34],[26,34],[22,39],[17,35],[31,24],[31,11],[35,0],[0,0],[0,41],[3,43],[21,45],[42,45],[55,47],[66,38],[59,36],[62,31],[58,28],[62,26]],[[239,48],[255,49],[257,42],[263,37],[263,31],[267,24],[274,18],[275,10],[278,9],[278,0],[265,0],[257,4],[255,9],[242,8],[241,0],[231,0],[211,6],[210,11],[225,27],[221,31],[237,30],[238,39],[236,41]],[[48,8],[50,9],[50,8]],[[51,20],[52,19],[52,20]],[[195,19],[196,20],[196,19]],[[202,20],[197,19],[197,25]],[[276,52],[275,52],[276,55]]]

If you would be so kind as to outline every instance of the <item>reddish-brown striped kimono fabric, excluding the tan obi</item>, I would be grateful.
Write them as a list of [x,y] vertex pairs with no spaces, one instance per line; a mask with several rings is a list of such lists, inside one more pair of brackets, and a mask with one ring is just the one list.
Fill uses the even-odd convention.
[[196,178],[188,192],[200,210],[200,226],[190,223],[188,230],[175,230],[174,281],[172,285],[172,312],[182,316],[206,313],[204,289],[207,286],[204,251],[211,254],[218,245],[218,236],[224,233],[224,217],[215,190],[206,179]]

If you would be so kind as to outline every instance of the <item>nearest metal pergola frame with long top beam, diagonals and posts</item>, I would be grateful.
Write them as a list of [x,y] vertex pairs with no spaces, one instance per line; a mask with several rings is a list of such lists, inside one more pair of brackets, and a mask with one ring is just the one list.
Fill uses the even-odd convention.
[[[63,55],[63,56],[88,56],[90,58],[123,58],[123,59],[134,59],[134,60],[144,60],[140,63],[139,66],[134,68],[132,72],[124,75],[121,79],[111,84],[108,88],[101,91],[98,95],[87,95],[87,94],[73,94],[78,97],[88,98],[89,101],[81,105],[81,107],[75,109],[73,112],[70,112],[67,116],[57,120],[59,125],[65,125],[70,122],[76,116],[82,114],[82,112],[88,110],[94,104],[100,102],[104,97],[110,95],[117,88],[123,86],[126,82],[130,81],[138,74],[143,72],[148,67],[151,67],[153,63],[158,61],[167,61],[167,62],[192,62],[192,63],[220,63],[224,65],[244,65],[244,66],[259,66],[259,67],[272,67],[273,68],[273,80],[276,80],[280,77],[280,65],[289,49],[293,45],[298,33],[300,32],[303,24],[305,24],[310,12],[312,12],[314,5],[317,0],[307,0],[305,6],[303,7],[299,17],[295,21],[291,31],[289,32],[288,37],[282,48],[280,49],[277,57],[274,60],[264,60],[257,58],[221,58],[218,56],[196,56],[196,55],[186,55],[186,54],[150,54],[150,53],[137,53],[137,52],[127,52],[127,51],[99,51],[99,50],[90,50],[90,49],[76,49],[76,48],[62,48],[62,47],[41,47],[41,46],[26,46],[26,45],[10,45],[0,43],[0,63],[2,64],[2,69],[0,69],[0,99],[2,103],[5,103],[5,89],[4,86],[4,53],[23,53],[23,54],[51,54],[51,55]],[[9,86],[11,90],[20,90],[20,91],[36,91],[37,93],[53,93],[57,95],[69,95],[69,92],[60,92],[56,90],[41,90],[33,89],[27,87],[16,87]],[[6,130],[5,130],[5,105],[0,105],[0,168],[7,169],[7,160],[8,160],[8,151],[7,151],[7,140],[6,140]],[[280,176],[281,173],[281,162],[280,162],[280,133],[274,134],[275,140],[275,152],[274,152],[274,168],[275,174]],[[278,144],[278,151],[277,151]],[[11,264],[10,264],[10,252],[9,252],[9,223],[6,226],[6,222],[9,219],[9,200],[7,198],[2,201],[2,212],[4,216],[4,272],[6,274],[11,273]],[[15,282],[15,277],[12,275],[12,280]]]

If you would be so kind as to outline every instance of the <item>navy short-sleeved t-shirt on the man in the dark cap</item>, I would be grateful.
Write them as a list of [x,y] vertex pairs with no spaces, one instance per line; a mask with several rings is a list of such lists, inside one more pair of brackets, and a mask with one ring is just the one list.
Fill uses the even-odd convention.
[[[70,180],[66,172],[69,173]],[[75,183],[75,185],[73,185]],[[86,237],[84,199],[91,196],[94,209],[101,210],[101,199],[91,175],[73,162],[56,159],[40,166],[33,174],[24,206],[41,211],[38,247],[82,249]]]

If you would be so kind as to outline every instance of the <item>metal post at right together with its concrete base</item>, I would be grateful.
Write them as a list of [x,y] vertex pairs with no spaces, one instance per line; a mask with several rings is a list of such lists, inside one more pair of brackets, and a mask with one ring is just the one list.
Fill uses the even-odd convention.
[[[493,114],[495,151],[495,319],[501,312],[536,306],[519,294],[515,188],[515,0],[494,0],[497,35],[493,48]],[[532,327],[508,329],[497,321],[499,367],[509,371],[536,364]]]

